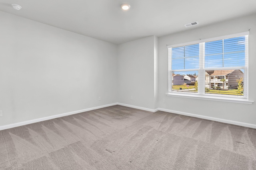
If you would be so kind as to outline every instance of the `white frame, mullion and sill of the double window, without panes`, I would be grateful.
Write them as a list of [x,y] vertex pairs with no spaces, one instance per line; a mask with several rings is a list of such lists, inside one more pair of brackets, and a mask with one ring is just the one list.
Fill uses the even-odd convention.
[[[192,41],[187,43],[181,43],[176,45],[168,45],[168,52],[169,52],[169,67],[168,67],[168,94],[167,96],[175,96],[175,97],[182,97],[182,98],[194,98],[194,99],[202,99],[202,100],[214,100],[214,101],[222,101],[222,102],[234,102],[234,103],[242,103],[242,104],[252,104],[253,101],[248,100],[248,43],[246,43],[245,46],[245,66],[240,67],[228,67],[228,69],[243,69],[244,70],[244,95],[243,96],[227,96],[227,95],[216,95],[216,94],[206,94],[205,93],[205,71],[206,70],[220,70],[221,68],[204,68],[204,43],[209,41],[217,41],[220,39],[229,39],[233,37],[240,37],[245,36],[246,41],[248,42],[248,35],[249,31],[242,32],[242,33],[236,33],[231,35],[225,35],[220,37],[214,37],[210,39],[202,39],[198,41]],[[198,93],[196,94],[190,94],[188,92],[174,92],[172,91],[172,47],[180,47],[185,45],[192,45],[192,44],[198,44],[200,45],[200,57],[199,57],[199,68],[198,69],[184,69],[182,71],[198,71],[198,78],[200,79],[200,83],[198,83]],[[226,69],[227,67],[223,68]],[[179,70],[180,71],[180,70]],[[199,80],[198,80],[199,82]]]

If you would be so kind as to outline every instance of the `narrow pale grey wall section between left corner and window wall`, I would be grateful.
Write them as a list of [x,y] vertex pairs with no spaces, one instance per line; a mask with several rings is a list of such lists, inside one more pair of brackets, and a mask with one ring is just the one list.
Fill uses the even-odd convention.
[[150,36],[118,45],[119,103],[155,109],[156,41]]

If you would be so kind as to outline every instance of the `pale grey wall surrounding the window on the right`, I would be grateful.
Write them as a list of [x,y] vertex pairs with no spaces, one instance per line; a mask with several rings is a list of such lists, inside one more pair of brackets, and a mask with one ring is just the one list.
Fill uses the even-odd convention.
[[[256,125],[256,15],[215,23],[206,27],[188,28],[188,31],[159,38],[159,100],[158,107],[177,112],[251,123]],[[252,105],[168,97],[168,49],[166,44],[174,45],[199,39],[207,39],[233,33],[248,31],[249,35],[249,100]],[[166,103],[162,100],[165,99]],[[186,106],[186,107],[185,107]]]

